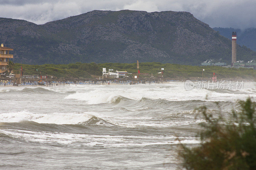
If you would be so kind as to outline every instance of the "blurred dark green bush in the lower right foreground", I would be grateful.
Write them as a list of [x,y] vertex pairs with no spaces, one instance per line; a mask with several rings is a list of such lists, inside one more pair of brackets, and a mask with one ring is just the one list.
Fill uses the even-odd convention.
[[201,126],[201,144],[189,149],[182,145],[186,169],[256,169],[256,113],[251,99],[240,103],[229,120],[213,117],[206,107],[200,113],[206,120]]

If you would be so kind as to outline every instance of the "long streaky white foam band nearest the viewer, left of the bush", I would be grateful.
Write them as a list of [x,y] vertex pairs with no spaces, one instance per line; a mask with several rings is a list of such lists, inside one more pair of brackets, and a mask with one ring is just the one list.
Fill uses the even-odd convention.
[[126,146],[147,146],[161,144],[197,144],[200,143],[196,137],[179,137],[176,136],[109,136],[109,135],[89,135],[73,134],[62,132],[37,132],[28,130],[0,130],[8,136],[21,138],[26,141],[38,143],[59,143],[72,145],[105,147],[126,147]]

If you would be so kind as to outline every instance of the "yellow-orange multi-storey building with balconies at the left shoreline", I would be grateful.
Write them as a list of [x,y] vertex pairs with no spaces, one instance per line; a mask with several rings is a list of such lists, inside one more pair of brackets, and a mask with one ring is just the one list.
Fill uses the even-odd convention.
[[3,73],[4,71],[7,70],[9,58],[13,58],[13,55],[9,54],[10,50],[13,50],[13,49],[4,47],[4,44],[1,44],[1,47],[0,47],[0,73]]

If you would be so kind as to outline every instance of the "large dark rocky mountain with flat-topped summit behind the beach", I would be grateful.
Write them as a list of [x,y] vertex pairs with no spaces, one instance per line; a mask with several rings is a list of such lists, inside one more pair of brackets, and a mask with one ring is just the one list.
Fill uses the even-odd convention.
[[[0,42],[14,62],[231,62],[231,41],[189,12],[91,11],[44,25],[0,18]],[[237,47],[237,59],[256,53]]]

